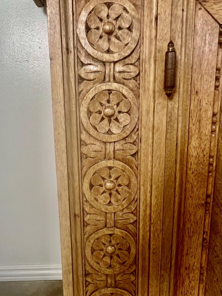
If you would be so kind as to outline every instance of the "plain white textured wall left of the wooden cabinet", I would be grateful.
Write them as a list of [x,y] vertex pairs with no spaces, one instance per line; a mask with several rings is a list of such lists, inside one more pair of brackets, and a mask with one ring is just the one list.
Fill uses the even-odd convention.
[[0,9],[0,265],[61,264],[47,16]]

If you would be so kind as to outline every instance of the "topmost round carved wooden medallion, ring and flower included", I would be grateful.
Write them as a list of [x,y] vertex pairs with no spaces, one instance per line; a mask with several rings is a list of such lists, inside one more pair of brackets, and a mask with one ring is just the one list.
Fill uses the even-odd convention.
[[128,0],[91,0],[81,12],[77,33],[89,54],[104,62],[114,62],[136,47],[140,18]]

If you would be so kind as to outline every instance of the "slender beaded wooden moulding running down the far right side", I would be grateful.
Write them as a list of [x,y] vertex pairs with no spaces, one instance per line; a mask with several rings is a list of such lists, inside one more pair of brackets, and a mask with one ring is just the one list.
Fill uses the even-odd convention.
[[207,195],[205,202],[205,217],[204,217],[204,229],[202,239],[202,252],[201,252],[201,263],[200,263],[200,281],[198,296],[204,295],[205,288],[205,277],[206,277],[206,266],[207,266],[207,252],[210,234],[210,216],[212,209],[212,198],[213,198],[213,185],[215,176],[215,163],[216,163],[216,152],[217,152],[217,139],[218,139],[218,112],[221,104],[221,66],[222,66],[222,29],[219,29],[218,37],[218,52],[217,52],[217,65],[215,74],[215,89],[214,89],[214,101],[213,101],[213,114],[212,114],[212,128],[210,137],[210,157],[209,157],[209,168],[207,178]]

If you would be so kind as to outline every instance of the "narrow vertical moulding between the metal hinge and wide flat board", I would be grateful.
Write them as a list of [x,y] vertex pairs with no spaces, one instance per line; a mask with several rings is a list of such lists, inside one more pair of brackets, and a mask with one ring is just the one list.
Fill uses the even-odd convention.
[[190,88],[193,57],[195,0],[185,0],[182,6],[181,55],[179,70],[178,117],[176,136],[176,167],[173,205],[173,231],[170,263],[170,296],[179,295],[179,268],[186,181]]

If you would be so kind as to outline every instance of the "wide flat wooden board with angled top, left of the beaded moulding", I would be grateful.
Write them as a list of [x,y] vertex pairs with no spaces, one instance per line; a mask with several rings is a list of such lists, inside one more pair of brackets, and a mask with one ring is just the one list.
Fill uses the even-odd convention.
[[179,295],[198,295],[218,32],[218,24],[197,2]]

